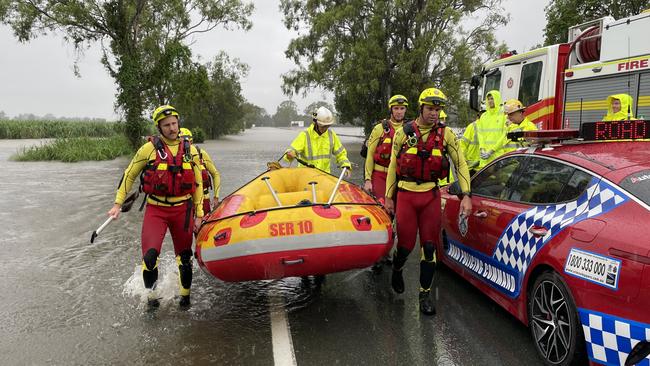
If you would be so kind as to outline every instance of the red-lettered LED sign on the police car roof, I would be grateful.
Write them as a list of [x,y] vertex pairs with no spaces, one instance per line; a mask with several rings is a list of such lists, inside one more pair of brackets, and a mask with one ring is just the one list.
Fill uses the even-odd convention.
[[583,123],[580,135],[589,141],[650,139],[650,120]]

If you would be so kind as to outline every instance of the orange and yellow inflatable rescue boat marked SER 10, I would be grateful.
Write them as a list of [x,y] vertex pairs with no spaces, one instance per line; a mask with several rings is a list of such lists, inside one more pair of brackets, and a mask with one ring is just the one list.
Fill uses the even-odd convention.
[[196,257],[214,277],[238,282],[364,268],[392,245],[390,217],[360,187],[314,168],[281,168],[207,216]]

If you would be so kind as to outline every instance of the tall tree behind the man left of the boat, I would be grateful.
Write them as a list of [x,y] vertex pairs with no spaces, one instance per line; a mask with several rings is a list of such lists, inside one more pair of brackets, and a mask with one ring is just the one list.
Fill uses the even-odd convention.
[[77,50],[100,43],[102,63],[118,86],[116,109],[134,147],[144,128],[145,91],[160,87],[177,59],[188,60],[184,40],[219,25],[249,29],[252,11],[242,0],[0,1],[0,21],[21,42],[60,31]]

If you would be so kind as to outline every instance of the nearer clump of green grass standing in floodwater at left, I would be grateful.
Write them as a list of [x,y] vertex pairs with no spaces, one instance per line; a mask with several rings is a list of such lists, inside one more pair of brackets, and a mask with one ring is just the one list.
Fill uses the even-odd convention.
[[132,153],[129,140],[123,135],[101,138],[74,137],[60,138],[40,146],[24,148],[20,153],[13,155],[11,160],[78,162],[110,160]]

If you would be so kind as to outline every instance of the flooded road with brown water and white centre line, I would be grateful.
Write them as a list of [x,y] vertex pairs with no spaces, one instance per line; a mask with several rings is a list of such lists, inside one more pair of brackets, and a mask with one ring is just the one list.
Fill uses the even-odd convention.
[[[335,127],[361,183],[362,139]],[[208,141],[224,197],[277,160],[298,129],[255,128]],[[171,239],[160,263],[162,304],[144,307],[140,202],[101,233],[128,159],[19,163],[33,140],[0,140],[0,354],[3,365],[536,365],[528,329],[447,270],[438,314],[420,315],[418,264],[406,292],[390,269],[328,275],[316,283],[222,283],[194,266],[192,306],[179,310]]]

